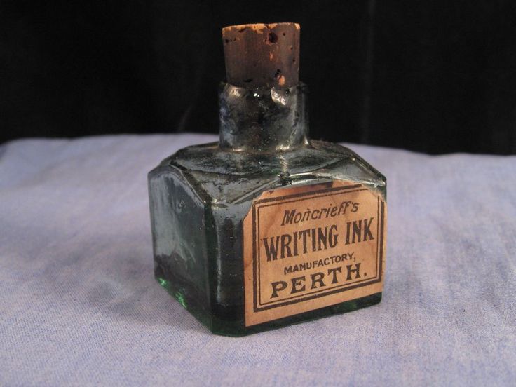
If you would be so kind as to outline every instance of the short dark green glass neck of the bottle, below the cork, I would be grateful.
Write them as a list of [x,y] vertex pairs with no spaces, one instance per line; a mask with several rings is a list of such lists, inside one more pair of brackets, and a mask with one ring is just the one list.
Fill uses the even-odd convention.
[[288,151],[308,143],[308,88],[247,89],[222,83],[219,147],[226,151]]

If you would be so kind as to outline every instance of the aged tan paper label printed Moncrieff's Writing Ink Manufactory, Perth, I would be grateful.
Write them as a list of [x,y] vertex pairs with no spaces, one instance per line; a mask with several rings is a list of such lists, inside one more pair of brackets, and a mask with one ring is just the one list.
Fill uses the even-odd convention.
[[244,219],[245,326],[381,292],[386,203],[333,181],[266,191]]

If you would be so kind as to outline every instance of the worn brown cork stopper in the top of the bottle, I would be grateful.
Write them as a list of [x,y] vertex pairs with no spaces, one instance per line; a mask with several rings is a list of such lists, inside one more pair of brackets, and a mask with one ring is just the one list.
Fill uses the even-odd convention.
[[299,82],[299,24],[222,29],[226,79],[243,88],[290,88]]

